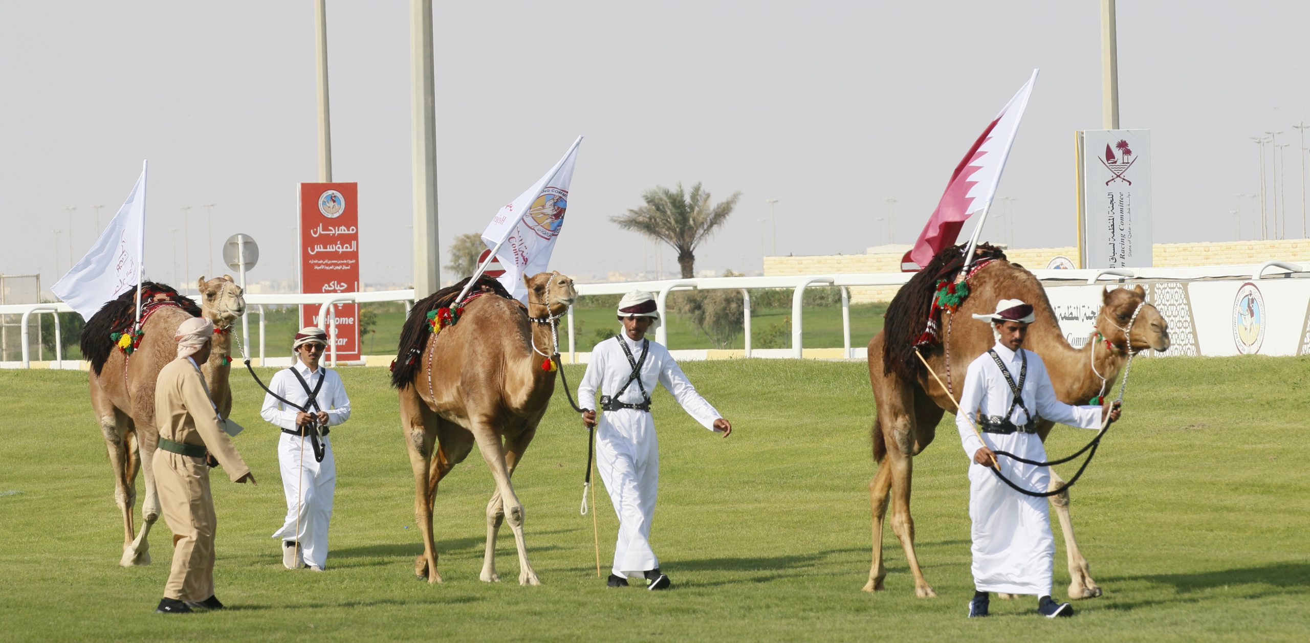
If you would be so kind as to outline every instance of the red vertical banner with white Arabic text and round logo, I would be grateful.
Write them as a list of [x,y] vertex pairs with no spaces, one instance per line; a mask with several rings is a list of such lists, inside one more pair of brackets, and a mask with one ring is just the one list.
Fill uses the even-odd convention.
[[[359,183],[300,183],[300,292],[359,292]],[[318,305],[300,306],[300,325],[331,334]],[[329,309],[331,310],[331,309]],[[359,304],[337,304],[337,356],[359,356]],[[330,347],[329,347],[330,350]]]

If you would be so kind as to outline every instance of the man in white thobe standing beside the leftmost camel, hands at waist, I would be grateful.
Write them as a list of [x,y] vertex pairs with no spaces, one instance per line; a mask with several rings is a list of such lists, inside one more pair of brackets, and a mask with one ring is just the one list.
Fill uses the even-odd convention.
[[272,376],[272,393],[265,395],[259,411],[282,428],[278,462],[287,519],[272,537],[282,538],[282,564],[288,570],[308,566],[324,571],[328,564],[328,524],[337,491],[337,458],[328,427],[350,419],[350,398],[341,376],[318,365],[326,346],[322,329],[300,329],[293,343],[296,364]]

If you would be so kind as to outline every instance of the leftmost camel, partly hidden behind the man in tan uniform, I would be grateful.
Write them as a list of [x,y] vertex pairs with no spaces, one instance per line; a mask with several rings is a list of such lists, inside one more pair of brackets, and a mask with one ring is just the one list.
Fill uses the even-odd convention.
[[[160,516],[151,464],[159,444],[155,381],[160,369],[177,358],[177,340],[173,335],[189,317],[203,314],[214,322],[214,348],[200,371],[219,414],[227,418],[232,411],[232,389],[228,384],[232,371],[231,330],[232,323],[245,312],[245,299],[241,287],[229,275],[210,280],[202,276],[196,284],[200,291],[199,308],[178,296],[173,288],[149,282],[144,284],[144,334],[130,356],[113,347],[107,335],[109,330],[121,329],[135,317],[135,288],[106,304],[83,331],[83,355],[92,361],[90,406],[109,449],[109,464],[114,470],[114,502],[123,515],[123,557],[118,563],[123,567],[151,563],[148,538],[151,526]],[[170,300],[179,305],[168,304]],[[145,477],[145,499],[141,503],[141,530],[134,533],[138,469]]]

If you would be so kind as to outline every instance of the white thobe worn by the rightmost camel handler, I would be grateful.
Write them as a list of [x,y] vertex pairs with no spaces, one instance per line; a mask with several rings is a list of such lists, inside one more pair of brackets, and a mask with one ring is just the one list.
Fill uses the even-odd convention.
[[[1015,384],[1019,382],[1022,359],[1018,352],[997,343],[993,350],[1006,365]],[[1099,406],[1070,406],[1056,399],[1051,376],[1041,358],[1020,348],[1028,358],[1028,375],[1020,393],[1023,405],[1035,416],[1081,428],[1100,428]],[[963,414],[955,416],[960,441],[969,462],[982,447],[969,422],[982,415],[1005,415],[1014,399],[1010,385],[990,355],[975,359],[964,376],[960,390]],[[968,416],[968,419],[964,418]],[[1010,422],[1030,422],[1023,409],[1015,405]],[[1047,450],[1036,433],[984,433],[988,447],[1015,456],[1044,462]],[[1000,457],[1001,473],[1015,485],[1045,491],[1051,471],[1045,466],[1026,465]],[[1051,516],[1045,498],[1023,495],[1001,482],[986,466],[969,466],[969,519],[973,521],[973,585],[980,592],[1014,595],[1051,595],[1051,574],[1055,566],[1056,542],[1051,534]]]

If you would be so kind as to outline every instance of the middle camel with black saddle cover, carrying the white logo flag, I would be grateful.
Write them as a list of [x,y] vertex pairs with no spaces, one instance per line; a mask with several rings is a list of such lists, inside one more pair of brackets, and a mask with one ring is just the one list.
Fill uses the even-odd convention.
[[[572,279],[559,272],[524,276],[527,310],[507,299],[504,288],[482,278],[470,292],[457,323],[439,333],[427,329],[427,314],[444,314],[464,285],[438,291],[410,312],[393,364],[392,385],[400,392],[401,430],[414,469],[414,520],[423,534],[423,554],[414,574],[440,583],[432,541],[432,503],[436,486],[464,461],[476,441],[495,478],[487,502],[486,554],[481,580],[499,581],[495,538],[508,517],[519,550],[519,584],[541,584],[528,563],[523,538],[523,504],[510,477],[536,435],[555,389],[554,325],[578,296]],[[434,452],[432,447],[436,445]]]

